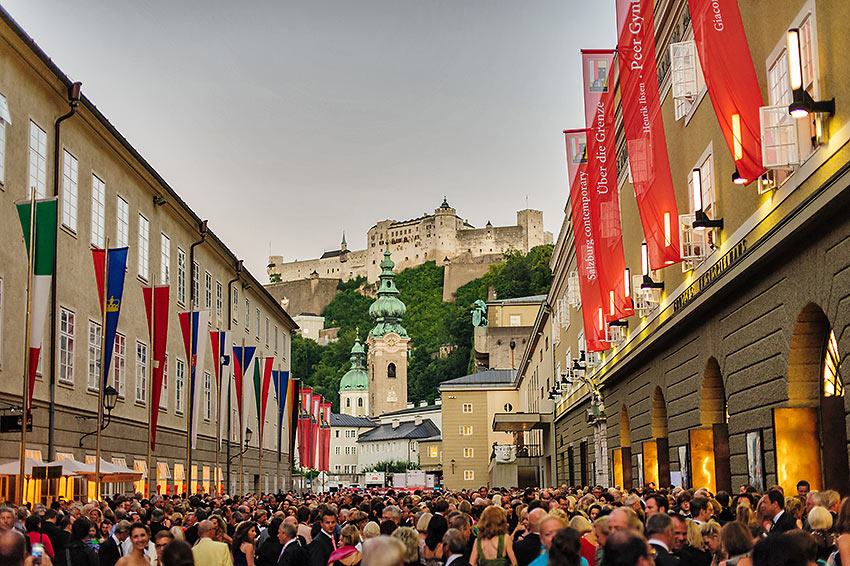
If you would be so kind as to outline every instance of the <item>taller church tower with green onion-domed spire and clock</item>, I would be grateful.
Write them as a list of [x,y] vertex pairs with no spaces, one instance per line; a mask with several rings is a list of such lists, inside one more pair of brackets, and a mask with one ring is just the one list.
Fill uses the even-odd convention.
[[369,332],[369,416],[407,407],[407,345],[410,337],[401,325],[407,308],[398,298],[395,263],[390,250],[381,261],[378,300],[369,307],[375,327]]

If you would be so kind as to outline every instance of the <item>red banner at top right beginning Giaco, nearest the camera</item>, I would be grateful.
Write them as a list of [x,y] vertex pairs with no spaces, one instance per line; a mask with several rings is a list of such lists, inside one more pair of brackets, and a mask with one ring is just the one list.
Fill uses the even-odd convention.
[[688,0],[705,85],[714,113],[745,183],[758,179],[759,108],[764,106],[737,0]]

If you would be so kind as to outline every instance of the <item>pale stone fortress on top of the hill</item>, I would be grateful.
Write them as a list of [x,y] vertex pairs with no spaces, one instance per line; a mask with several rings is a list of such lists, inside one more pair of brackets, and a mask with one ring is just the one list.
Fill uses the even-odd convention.
[[367,232],[366,241],[365,250],[349,250],[343,234],[340,248],[325,252],[318,259],[284,263],[283,256],[269,256],[269,279],[275,282],[279,276],[280,282],[313,278],[348,281],[366,277],[369,283],[375,283],[381,274],[385,250],[389,250],[399,270],[435,261],[437,265],[478,266],[473,269],[477,277],[486,271],[486,266],[501,261],[508,250],[528,253],[535,246],[551,244],[552,233],[543,230],[543,212],[532,209],[518,211],[514,226],[493,226],[488,222],[483,228],[475,228],[443,199],[434,214],[378,222]]

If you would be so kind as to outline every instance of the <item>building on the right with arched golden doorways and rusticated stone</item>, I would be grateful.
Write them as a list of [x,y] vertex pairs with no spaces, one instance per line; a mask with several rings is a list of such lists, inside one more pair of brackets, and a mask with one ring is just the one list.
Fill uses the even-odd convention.
[[[688,3],[658,2],[661,108],[686,261],[642,269],[642,228],[618,131],[626,267],[664,285],[632,286],[637,313],[627,328],[609,328],[612,347],[601,354],[584,347],[565,219],[548,299],[551,318],[572,321],[546,370],[570,368],[569,385],[549,384],[557,403],[557,483],[607,477],[624,487],[674,483],[716,492],[747,483],[788,491],[807,480],[813,490],[850,492],[841,371],[850,352],[850,222],[840,213],[850,201],[850,124],[842,104],[850,81],[838,57],[848,39],[835,25],[850,13],[836,1],[738,7],[764,104],[761,122],[747,127],[761,130],[767,171],[746,185],[733,181],[736,155],[701,73],[693,59],[692,72],[687,65],[676,67],[684,75],[671,70],[683,63],[676,59],[683,50],[694,53]],[[792,42],[789,51],[789,32],[799,49]],[[697,87],[689,97],[678,94],[686,75]],[[802,79],[794,86],[789,76]],[[612,88],[619,88],[613,80]],[[834,114],[792,118],[789,105],[805,99],[803,92],[835,97]],[[785,153],[777,153],[778,129]],[[722,227],[693,228],[693,216],[684,215],[697,210],[722,219]],[[528,379],[530,363],[525,371]]]

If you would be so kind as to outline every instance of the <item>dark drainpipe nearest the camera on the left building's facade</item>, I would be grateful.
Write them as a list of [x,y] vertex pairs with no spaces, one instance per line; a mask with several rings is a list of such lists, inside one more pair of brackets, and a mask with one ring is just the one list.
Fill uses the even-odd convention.
[[[59,150],[62,149],[61,130],[62,122],[77,113],[77,106],[80,104],[80,90],[83,83],[72,83],[68,87],[68,106],[71,109],[67,114],[63,114],[53,123],[53,196],[59,196]],[[61,223],[61,218],[56,219],[57,223]],[[54,245],[59,246],[59,230],[56,230],[56,240]],[[52,462],[56,457],[56,310],[57,297],[56,287],[59,283],[59,278],[56,276],[59,272],[58,267],[59,254],[53,255],[53,285],[50,286],[50,370],[49,370],[49,395],[50,403],[48,405],[48,423],[47,423],[47,461]]]

